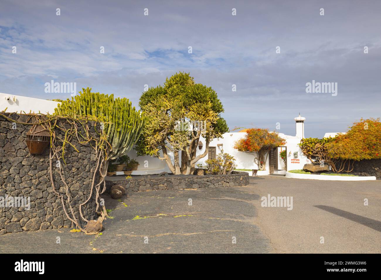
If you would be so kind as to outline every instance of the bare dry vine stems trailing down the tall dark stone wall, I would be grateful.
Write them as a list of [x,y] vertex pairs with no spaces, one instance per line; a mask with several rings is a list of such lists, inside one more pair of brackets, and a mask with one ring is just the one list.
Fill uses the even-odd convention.
[[[91,183],[90,188],[90,194],[88,198],[79,205],[79,213],[80,217],[88,222],[88,220],[83,216],[82,213],[82,207],[91,199],[93,192],[95,192],[95,202],[96,202],[96,212],[98,215],[101,216],[101,221],[105,219],[107,216],[106,207],[104,204],[99,204],[100,194],[104,193],[106,191],[106,182],[104,181],[104,178],[106,176],[107,172],[107,156],[111,149],[110,143],[107,141],[106,135],[104,134],[103,130],[100,130],[99,132],[96,131],[99,135],[99,138],[94,138],[90,136],[89,134],[89,127],[88,127],[88,121],[94,121],[95,123],[98,122],[96,118],[92,116],[77,116],[76,118],[70,118],[68,116],[56,116],[56,115],[43,115],[43,114],[25,114],[29,116],[27,121],[29,121],[31,118],[37,119],[37,122],[19,122],[14,119],[9,118],[6,115],[3,115],[0,113],[1,116],[3,116],[5,119],[8,119],[9,121],[16,122],[19,124],[24,125],[32,125],[31,131],[33,131],[37,126],[42,126],[43,130],[50,133],[50,153],[49,153],[49,172],[50,172],[50,181],[53,187],[53,191],[58,197],[58,199],[61,200],[62,208],[64,210],[65,215],[75,226],[80,229],[81,231],[85,232],[85,229],[81,226],[81,223],[77,220],[77,218],[74,215],[74,210],[72,208],[72,205],[70,203],[71,200],[71,194],[69,192],[69,185],[66,183],[66,180],[64,178],[64,175],[62,174],[62,167],[61,164],[59,164],[59,177],[61,178],[62,183],[64,184],[66,188],[66,199],[64,198],[64,195],[60,194],[59,191],[56,190],[56,186],[54,185],[54,176],[53,176],[53,169],[52,169],[52,161],[54,158],[56,158],[58,161],[62,159],[64,164],[65,162],[65,147],[66,145],[70,145],[75,151],[78,151],[77,148],[70,142],[72,138],[76,139],[77,142],[80,145],[87,145],[89,144],[91,148],[95,150],[95,158],[97,159],[96,167],[94,169],[93,173],[93,180]],[[69,124],[69,128],[67,128],[64,124]],[[82,129],[85,132],[85,135],[82,135],[80,131],[78,131],[78,125],[82,127]],[[95,126],[96,127],[96,126]],[[56,134],[56,130],[60,130],[62,134],[64,134],[64,138],[59,137]],[[61,143],[61,145],[57,145],[58,143]],[[100,178],[99,182],[95,185],[96,182],[96,174],[99,172]],[[103,185],[103,186],[102,186]],[[102,188],[102,189],[101,189]],[[101,206],[101,209],[100,209]],[[71,215],[69,215],[67,208],[69,208]]]

